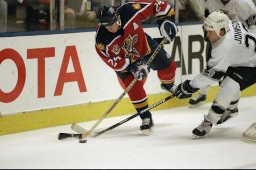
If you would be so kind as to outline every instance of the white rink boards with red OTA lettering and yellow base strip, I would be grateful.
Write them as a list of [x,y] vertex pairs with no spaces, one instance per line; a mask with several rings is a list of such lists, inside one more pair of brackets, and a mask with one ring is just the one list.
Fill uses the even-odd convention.
[[[202,25],[179,26],[164,49],[177,63],[175,84],[191,79],[205,66]],[[160,38],[158,28],[145,28]],[[95,32],[0,38],[0,135],[99,119],[122,94],[116,74],[94,48]],[[182,49],[182,50],[181,50]],[[149,104],[168,93],[161,90],[156,71],[145,84]],[[213,100],[213,86],[207,102]],[[255,87],[242,96],[255,95]],[[186,106],[188,99],[172,99],[156,109]],[[109,116],[135,112],[129,98]]]

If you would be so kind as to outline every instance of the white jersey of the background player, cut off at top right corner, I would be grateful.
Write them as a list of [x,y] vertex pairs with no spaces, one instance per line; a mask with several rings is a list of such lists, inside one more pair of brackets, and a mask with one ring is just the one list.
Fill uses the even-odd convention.
[[226,5],[220,0],[207,0],[205,10],[210,13],[220,10],[227,14],[230,20],[240,21],[246,28],[256,29],[256,7],[252,0],[231,0]]

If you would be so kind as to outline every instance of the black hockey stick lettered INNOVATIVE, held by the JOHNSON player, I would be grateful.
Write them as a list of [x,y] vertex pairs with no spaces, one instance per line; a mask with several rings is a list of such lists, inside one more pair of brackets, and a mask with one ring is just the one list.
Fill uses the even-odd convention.
[[[149,107],[147,107],[147,108],[145,108],[145,109],[143,109],[143,110],[137,112],[136,114],[134,114],[134,115],[132,115],[132,116],[130,116],[130,117],[128,117],[128,118],[122,120],[121,122],[118,122],[117,124],[115,124],[115,125],[113,125],[113,126],[108,127],[107,129],[105,129],[105,130],[103,130],[103,131],[95,132],[94,134],[91,134],[91,136],[92,136],[92,137],[97,137],[97,136],[101,135],[102,133],[105,133],[105,132],[107,132],[107,131],[110,131],[111,129],[116,128],[117,126],[120,126],[120,125],[122,125],[122,124],[128,122],[129,120],[131,120],[131,119],[133,119],[133,118],[135,118],[135,117],[137,117],[137,116],[143,114],[143,112],[146,112],[146,111],[148,111],[148,110],[151,110],[151,109],[157,107],[158,105],[160,105],[160,104],[166,102],[167,100],[172,99],[174,96],[175,96],[175,95],[172,94],[172,95],[168,96],[167,98],[164,98],[164,99],[162,99],[161,101],[158,101],[158,102],[152,104],[151,106],[149,106]],[[74,128],[74,127],[75,127],[75,128]],[[77,129],[78,129],[78,130],[77,130]],[[74,130],[74,131],[78,131],[78,132],[84,132],[84,133],[87,132],[86,129],[84,129],[83,127],[81,127],[81,126],[79,126],[79,125],[73,126],[73,130]],[[79,134],[60,133],[60,134],[59,134],[59,140],[64,140],[64,139],[67,139],[67,138],[70,138],[70,137],[71,137],[71,138],[75,138],[75,139],[82,139],[82,134],[83,134],[83,133],[79,133]]]

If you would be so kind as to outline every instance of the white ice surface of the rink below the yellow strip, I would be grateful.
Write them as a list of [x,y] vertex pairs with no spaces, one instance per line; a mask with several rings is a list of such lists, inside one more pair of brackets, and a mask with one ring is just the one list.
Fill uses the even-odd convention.
[[[136,117],[87,143],[59,141],[58,126],[0,136],[0,168],[256,168],[256,145],[242,141],[242,133],[256,122],[256,97],[239,101],[239,115],[225,124],[213,126],[209,135],[191,139],[211,103],[199,108],[179,107],[152,111],[154,134],[143,135]],[[110,113],[111,114],[111,113]],[[96,128],[101,131],[130,115],[106,118]],[[90,129],[97,120],[80,123]]]

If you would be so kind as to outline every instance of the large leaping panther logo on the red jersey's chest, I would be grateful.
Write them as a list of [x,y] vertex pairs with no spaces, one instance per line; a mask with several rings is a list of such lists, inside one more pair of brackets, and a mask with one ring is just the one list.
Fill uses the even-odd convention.
[[125,54],[126,58],[133,59],[134,56],[137,56],[137,57],[140,56],[136,48],[134,48],[134,45],[137,43],[137,40],[138,40],[137,34],[135,34],[133,37],[129,35],[125,39],[124,46],[122,47],[122,49],[126,51],[126,54]]

